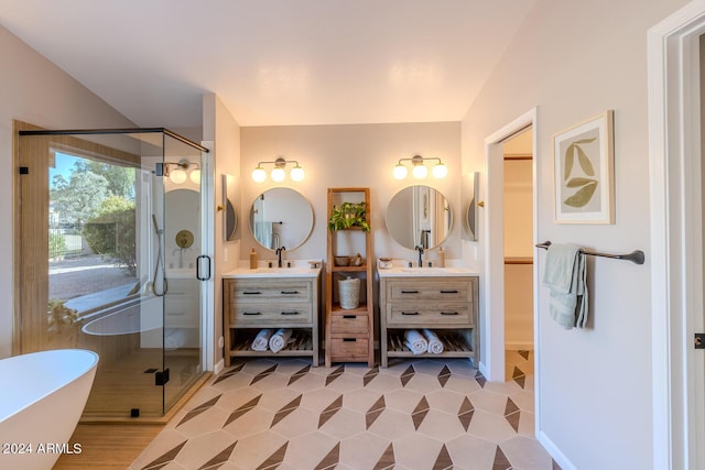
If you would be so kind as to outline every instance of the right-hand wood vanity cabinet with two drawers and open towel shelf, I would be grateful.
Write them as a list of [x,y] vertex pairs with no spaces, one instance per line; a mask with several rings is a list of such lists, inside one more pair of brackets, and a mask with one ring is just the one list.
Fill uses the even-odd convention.
[[[478,277],[404,276],[380,272],[381,365],[389,358],[479,359]],[[414,356],[404,346],[404,331],[429,328],[444,346],[440,354]]]

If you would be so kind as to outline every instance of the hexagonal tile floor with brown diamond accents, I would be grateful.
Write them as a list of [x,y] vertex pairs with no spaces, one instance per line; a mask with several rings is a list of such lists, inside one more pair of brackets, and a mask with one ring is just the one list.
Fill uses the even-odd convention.
[[131,469],[556,470],[534,439],[533,358],[508,381],[463,359],[311,368],[240,362],[210,380]]

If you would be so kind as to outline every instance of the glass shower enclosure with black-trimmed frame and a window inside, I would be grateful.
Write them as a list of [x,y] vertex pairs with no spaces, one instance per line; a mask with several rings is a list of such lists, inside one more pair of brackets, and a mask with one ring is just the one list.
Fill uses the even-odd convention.
[[166,129],[19,131],[20,352],[100,356],[84,417],[158,417],[204,371],[207,149]]

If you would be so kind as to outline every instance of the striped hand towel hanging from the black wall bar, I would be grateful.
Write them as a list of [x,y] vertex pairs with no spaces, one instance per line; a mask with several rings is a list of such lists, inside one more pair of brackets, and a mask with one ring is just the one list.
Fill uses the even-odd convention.
[[551,292],[549,314],[563,328],[587,324],[585,253],[574,244],[552,243],[546,254],[543,285]]

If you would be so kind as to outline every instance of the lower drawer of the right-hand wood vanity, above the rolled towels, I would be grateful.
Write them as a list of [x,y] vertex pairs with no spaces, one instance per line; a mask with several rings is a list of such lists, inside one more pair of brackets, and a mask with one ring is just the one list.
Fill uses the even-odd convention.
[[469,303],[392,303],[387,305],[387,324],[473,326]]

